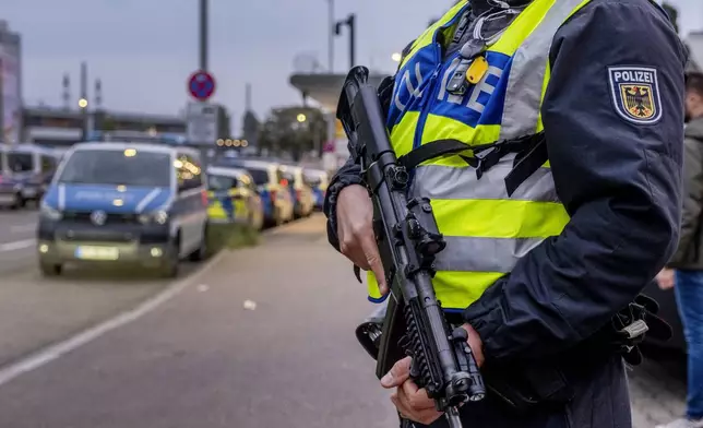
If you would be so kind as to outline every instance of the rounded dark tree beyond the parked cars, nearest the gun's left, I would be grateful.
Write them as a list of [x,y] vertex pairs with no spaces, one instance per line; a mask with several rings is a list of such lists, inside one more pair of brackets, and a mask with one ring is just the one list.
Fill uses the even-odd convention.
[[322,152],[327,136],[326,127],[322,111],[317,108],[293,106],[274,109],[261,128],[259,150],[267,148],[274,154],[286,152],[298,162],[306,152]]

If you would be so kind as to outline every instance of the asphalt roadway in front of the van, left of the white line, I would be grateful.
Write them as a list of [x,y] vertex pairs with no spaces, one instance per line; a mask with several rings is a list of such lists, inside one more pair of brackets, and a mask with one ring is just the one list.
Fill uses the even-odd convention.
[[[105,269],[45,278],[36,266],[36,218],[31,210],[0,212],[0,366],[129,309],[170,282]],[[194,268],[184,265],[183,275]]]

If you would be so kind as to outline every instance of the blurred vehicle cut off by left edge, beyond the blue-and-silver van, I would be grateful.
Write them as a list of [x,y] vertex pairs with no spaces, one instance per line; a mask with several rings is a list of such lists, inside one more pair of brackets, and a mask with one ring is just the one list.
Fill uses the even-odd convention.
[[58,152],[34,144],[0,146],[0,206],[38,203],[59,164]]

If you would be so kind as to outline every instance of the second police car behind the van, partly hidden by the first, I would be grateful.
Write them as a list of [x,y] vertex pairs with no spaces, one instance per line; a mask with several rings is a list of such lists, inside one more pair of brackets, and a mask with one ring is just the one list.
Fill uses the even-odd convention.
[[261,195],[264,207],[264,222],[277,226],[294,218],[295,200],[285,185],[281,165],[269,160],[243,157],[221,158],[215,167],[239,167],[251,175]]

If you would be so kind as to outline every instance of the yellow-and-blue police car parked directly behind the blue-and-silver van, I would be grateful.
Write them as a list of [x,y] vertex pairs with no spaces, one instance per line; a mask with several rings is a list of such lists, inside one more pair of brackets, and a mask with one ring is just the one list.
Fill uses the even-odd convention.
[[264,224],[264,209],[254,179],[241,168],[207,168],[207,214],[211,223],[242,223],[257,230]]

